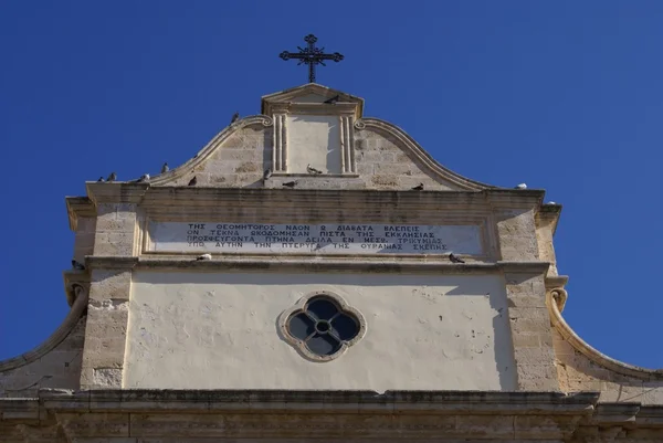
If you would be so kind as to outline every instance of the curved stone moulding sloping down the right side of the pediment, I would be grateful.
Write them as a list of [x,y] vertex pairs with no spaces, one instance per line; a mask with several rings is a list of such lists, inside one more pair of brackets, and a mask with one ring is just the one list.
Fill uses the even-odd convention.
[[440,162],[438,162],[438,160],[431,157],[431,155],[428,154],[425,149],[423,149],[412,137],[410,137],[408,133],[406,133],[403,129],[401,129],[392,123],[379,118],[367,117],[355,122],[355,128],[359,130],[366,128],[377,129],[392,136],[393,138],[399,140],[402,144],[402,146],[407,147],[410,150],[410,154],[417,157],[417,159],[422,165],[424,165],[434,177],[438,177],[442,181],[452,182],[463,190],[471,191],[481,191],[484,189],[495,188],[491,184],[471,180],[466,177],[461,176],[460,173],[452,171],[451,169],[445,168]]

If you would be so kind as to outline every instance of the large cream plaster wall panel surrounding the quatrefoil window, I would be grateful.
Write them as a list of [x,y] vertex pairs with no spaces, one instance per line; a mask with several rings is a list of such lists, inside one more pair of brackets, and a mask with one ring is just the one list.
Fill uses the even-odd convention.
[[[359,309],[366,336],[304,359],[277,318],[312,291]],[[135,272],[124,388],[515,390],[498,276]]]

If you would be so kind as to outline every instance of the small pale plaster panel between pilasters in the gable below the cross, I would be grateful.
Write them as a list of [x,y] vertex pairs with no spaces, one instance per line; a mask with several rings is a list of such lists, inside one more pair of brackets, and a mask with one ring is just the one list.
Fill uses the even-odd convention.
[[340,173],[340,119],[336,115],[287,116],[287,171]]

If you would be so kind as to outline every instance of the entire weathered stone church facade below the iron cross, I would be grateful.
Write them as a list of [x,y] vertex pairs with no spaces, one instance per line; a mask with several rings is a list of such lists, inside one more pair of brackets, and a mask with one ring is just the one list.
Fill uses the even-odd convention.
[[185,165],[86,191],[67,317],[0,361],[2,442],[663,441],[663,371],[561,316],[561,207],[359,97],[266,95]]

